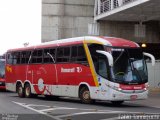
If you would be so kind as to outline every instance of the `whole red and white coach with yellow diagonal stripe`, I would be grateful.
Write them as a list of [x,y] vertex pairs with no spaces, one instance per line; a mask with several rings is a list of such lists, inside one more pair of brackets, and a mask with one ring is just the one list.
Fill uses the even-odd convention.
[[83,103],[146,99],[148,73],[138,44],[114,37],[77,37],[7,51],[6,88],[19,97],[68,96]]

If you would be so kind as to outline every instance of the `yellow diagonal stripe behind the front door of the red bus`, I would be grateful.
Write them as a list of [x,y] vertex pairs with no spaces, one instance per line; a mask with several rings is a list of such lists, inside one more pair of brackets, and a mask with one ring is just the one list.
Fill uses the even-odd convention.
[[96,72],[95,72],[95,69],[94,69],[93,61],[92,61],[88,46],[85,42],[83,44],[84,44],[84,49],[86,51],[87,59],[88,59],[88,62],[89,62],[89,66],[90,66],[90,69],[91,69],[91,73],[92,73],[92,76],[93,76],[93,79],[94,79],[94,82],[95,82],[95,86],[98,87],[99,86],[98,79],[97,79],[97,75],[96,75]]

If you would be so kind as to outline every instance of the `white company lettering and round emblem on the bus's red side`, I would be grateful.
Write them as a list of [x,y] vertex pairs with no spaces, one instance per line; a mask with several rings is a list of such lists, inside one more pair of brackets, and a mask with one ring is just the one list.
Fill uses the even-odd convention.
[[81,73],[82,68],[81,67],[76,67],[76,68],[61,68],[61,73]]

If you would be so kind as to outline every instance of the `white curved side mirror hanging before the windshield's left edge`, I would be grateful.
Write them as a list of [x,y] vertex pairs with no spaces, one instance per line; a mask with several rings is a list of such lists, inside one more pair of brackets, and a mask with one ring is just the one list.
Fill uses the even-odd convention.
[[102,50],[96,50],[96,52],[102,55],[105,55],[108,59],[109,66],[111,67],[113,66],[113,56],[109,52],[102,51]]

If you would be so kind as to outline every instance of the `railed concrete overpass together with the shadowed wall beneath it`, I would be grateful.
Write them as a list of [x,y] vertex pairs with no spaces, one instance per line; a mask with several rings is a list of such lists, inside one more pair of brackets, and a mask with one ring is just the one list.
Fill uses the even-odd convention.
[[160,43],[159,13],[160,0],[95,0],[94,20],[100,35]]

